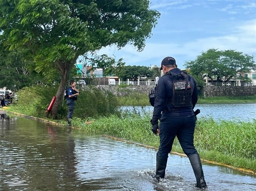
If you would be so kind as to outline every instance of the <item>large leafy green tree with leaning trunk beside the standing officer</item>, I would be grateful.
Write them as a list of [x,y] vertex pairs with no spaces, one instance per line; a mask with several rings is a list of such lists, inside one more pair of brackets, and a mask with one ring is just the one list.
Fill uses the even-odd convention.
[[0,0],[0,41],[9,50],[28,49],[36,71],[60,73],[52,108],[57,118],[78,56],[111,44],[141,51],[159,16],[148,0]]

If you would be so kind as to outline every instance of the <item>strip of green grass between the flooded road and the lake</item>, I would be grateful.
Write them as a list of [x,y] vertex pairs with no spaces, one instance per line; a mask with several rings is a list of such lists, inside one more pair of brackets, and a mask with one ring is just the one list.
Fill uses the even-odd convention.
[[[102,133],[125,140],[159,146],[159,137],[151,132],[149,116],[130,115],[119,118],[116,115],[90,120],[75,118],[73,124],[85,132]],[[256,121],[214,122],[200,119],[195,130],[195,146],[202,159],[229,164],[256,171]],[[172,151],[183,153],[175,139]]]

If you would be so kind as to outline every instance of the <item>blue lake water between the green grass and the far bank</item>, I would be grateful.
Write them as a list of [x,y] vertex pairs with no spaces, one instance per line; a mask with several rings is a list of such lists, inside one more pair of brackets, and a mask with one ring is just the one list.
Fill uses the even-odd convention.
[[[200,109],[198,118],[206,117],[214,120],[236,120],[252,121],[256,120],[256,103],[236,103],[236,104],[197,104],[194,110]],[[138,113],[140,115],[152,115],[152,106],[125,106],[121,110]]]

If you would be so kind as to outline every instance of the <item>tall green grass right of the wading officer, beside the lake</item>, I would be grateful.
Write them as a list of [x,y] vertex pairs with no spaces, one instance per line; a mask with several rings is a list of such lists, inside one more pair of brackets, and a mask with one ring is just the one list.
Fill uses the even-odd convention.
[[256,159],[256,120],[233,122],[201,118],[195,130],[196,145],[231,157]]

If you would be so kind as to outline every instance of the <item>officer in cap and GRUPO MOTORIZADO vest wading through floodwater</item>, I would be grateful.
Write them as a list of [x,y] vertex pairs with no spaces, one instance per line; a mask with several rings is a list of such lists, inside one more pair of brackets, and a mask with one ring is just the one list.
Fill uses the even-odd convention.
[[[194,147],[196,116],[193,108],[197,103],[197,87],[194,78],[177,68],[173,57],[161,62],[164,75],[156,86],[156,99],[151,119],[152,131],[160,136],[160,145],[156,154],[156,179],[164,178],[168,154],[173,140],[178,138],[183,152],[188,156],[194,174],[196,187],[205,189],[201,159]],[[158,120],[160,126],[158,127]]]

